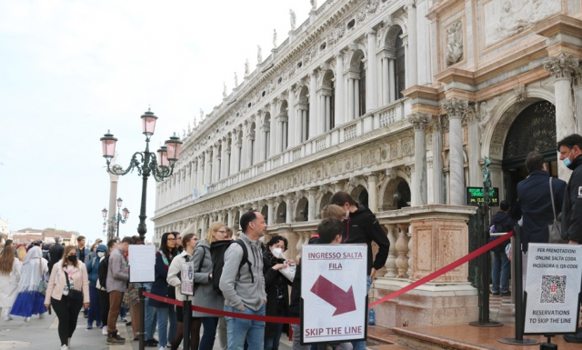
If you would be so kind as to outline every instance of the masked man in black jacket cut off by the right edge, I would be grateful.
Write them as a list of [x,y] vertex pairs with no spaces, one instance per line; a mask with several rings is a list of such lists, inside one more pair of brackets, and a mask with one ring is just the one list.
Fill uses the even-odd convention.
[[[582,244],[582,136],[568,135],[557,143],[560,160],[572,170],[567,182],[562,206],[562,234],[567,235],[570,245]],[[564,340],[582,343],[582,328],[576,335],[564,335]]]

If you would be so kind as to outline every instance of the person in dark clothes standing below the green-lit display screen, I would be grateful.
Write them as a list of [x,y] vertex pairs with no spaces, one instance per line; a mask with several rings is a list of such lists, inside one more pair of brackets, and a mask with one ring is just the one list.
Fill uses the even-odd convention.
[[[509,202],[501,201],[499,203],[499,211],[491,218],[490,233],[507,233],[513,230],[515,222],[509,215]],[[495,240],[499,237],[491,237]],[[492,295],[511,296],[509,292],[509,269],[510,263],[507,259],[506,246],[509,241],[497,245],[491,249],[493,252],[493,269],[491,270],[491,280],[493,287],[491,288]]]

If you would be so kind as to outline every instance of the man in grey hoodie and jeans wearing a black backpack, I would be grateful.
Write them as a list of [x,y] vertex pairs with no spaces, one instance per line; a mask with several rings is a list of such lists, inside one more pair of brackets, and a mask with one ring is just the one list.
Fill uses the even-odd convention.
[[[263,252],[259,238],[265,235],[266,222],[261,213],[251,210],[241,215],[240,239],[228,246],[220,277],[225,296],[225,311],[246,315],[265,315],[266,291],[263,276]],[[246,253],[246,256],[245,256]],[[244,259],[246,257],[246,261]],[[245,266],[241,266],[245,265]],[[264,321],[226,317],[228,350],[262,350]]]

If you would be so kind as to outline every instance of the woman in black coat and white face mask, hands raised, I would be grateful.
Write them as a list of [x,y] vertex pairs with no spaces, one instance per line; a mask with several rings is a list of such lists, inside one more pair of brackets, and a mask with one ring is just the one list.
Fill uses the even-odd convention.
[[[279,270],[287,267],[292,260],[281,258],[287,250],[285,237],[276,235],[266,244],[263,254],[263,274],[265,275],[266,315],[286,316],[289,309],[289,281]],[[277,257],[278,256],[278,257]],[[264,350],[278,350],[283,324],[267,322],[265,325]]]

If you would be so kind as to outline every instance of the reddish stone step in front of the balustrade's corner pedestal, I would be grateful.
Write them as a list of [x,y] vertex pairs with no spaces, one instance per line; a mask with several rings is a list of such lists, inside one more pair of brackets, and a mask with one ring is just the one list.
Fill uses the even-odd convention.
[[[517,350],[524,349],[524,345],[503,344],[498,340],[514,338],[513,325],[499,327],[477,327],[473,325],[441,325],[441,326],[413,326],[393,328],[398,336],[398,345],[414,350]],[[547,340],[541,335],[525,335],[526,339],[545,343]],[[552,343],[560,350],[580,350],[582,346],[567,343],[562,335],[552,338]],[[536,349],[539,345],[534,345]],[[530,347],[534,349],[534,347]],[[386,349],[387,350],[387,349]]]

